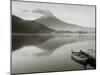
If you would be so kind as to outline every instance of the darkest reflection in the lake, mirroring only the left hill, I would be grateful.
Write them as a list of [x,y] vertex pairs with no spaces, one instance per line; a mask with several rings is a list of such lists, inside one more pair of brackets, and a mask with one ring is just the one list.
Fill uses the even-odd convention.
[[12,35],[12,51],[20,49],[23,46],[38,45],[51,37],[44,37],[43,35]]

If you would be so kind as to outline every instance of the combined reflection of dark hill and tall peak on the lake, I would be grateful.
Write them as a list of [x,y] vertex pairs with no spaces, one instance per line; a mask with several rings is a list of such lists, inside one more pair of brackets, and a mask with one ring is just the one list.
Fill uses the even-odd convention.
[[56,48],[65,44],[92,39],[94,39],[94,35],[13,35],[12,50],[15,51],[23,46],[33,45],[43,50],[41,53],[33,55],[38,57],[49,56],[56,50]]

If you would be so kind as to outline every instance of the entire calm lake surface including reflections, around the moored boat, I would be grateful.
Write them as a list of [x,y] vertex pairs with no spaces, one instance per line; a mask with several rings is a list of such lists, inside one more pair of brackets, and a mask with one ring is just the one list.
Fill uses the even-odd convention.
[[89,48],[95,49],[95,35],[12,35],[12,73],[81,70],[71,50]]

